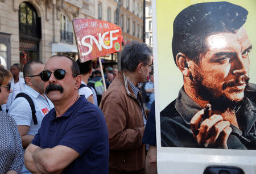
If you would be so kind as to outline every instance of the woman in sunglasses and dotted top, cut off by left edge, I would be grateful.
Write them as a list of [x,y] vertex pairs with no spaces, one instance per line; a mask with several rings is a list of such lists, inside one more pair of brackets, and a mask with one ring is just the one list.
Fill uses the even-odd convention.
[[[6,104],[10,90],[10,71],[0,66],[0,105]],[[8,113],[0,111],[0,173],[20,173],[23,165],[23,148],[18,128]]]

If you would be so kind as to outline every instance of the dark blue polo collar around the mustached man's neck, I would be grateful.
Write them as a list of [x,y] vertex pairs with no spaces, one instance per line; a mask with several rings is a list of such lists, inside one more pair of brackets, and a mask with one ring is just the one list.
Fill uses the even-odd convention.
[[[78,107],[84,105],[85,102],[86,102],[85,96],[84,96],[84,95],[81,95],[81,96],[79,97],[79,99],[78,99],[71,107],[69,107],[68,110],[67,110],[62,116],[57,117],[57,118],[69,117],[69,116],[71,116],[71,114],[72,114],[73,112],[75,112]],[[88,101],[88,102],[89,102],[89,101]],[[56,118],[56,111],[55,111],[55,108],[53,108],[51,111],[52,111],[52,112],[50,113],[51,116],[54,116],[54,118]],[[54,119],[54,118],[53,118],[53,119]]]

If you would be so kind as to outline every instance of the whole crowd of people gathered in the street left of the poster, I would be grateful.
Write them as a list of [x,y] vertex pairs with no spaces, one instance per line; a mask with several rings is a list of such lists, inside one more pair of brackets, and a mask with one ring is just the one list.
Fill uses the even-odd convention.
[[28,61],[23,78],[18,64],[1,66],[0,173],[145,173],[152,51],[133,41],[121,60],[104,77],[63,54]]

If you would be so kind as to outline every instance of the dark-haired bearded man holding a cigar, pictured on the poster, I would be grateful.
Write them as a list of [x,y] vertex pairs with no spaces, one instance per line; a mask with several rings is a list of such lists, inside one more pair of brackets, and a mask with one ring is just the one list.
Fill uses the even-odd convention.
[[256,148],[247,14],[232,3],[209,2],[176,16],[172,53],[184,86],[160,113],[162,146]]

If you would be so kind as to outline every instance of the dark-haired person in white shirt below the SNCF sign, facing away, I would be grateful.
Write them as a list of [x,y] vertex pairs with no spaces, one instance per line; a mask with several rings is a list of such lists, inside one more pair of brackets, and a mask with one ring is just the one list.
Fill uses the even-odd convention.
[[92,61],[81,63],[78,59],[76,62],[79,65],[80,74],[82,77],[81,86],[79,88],[79,95],[84,95],[86,100],[98,106],[97,95],[94,88],[87,86],[88,79],[90,75],[92,75]]

